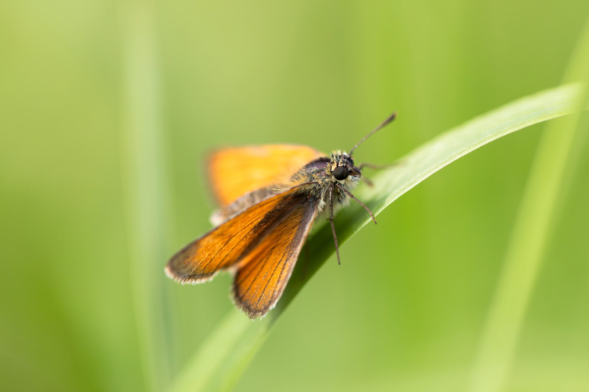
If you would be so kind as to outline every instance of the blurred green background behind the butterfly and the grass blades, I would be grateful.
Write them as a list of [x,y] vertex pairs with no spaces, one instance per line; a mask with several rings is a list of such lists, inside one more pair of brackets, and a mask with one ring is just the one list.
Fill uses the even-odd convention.
[[[211,148],[346,149],[394,109],[356,151],[391,162],[558,85],[588,15],[585,0],[0,2],[2,389],[151,388],[150,333],[163,388],[233,311],[229,275],[163,273],[210,228]],[[455,162],[346,242],[237,390],[466,390],[541,128]],[[589,390],[580,164],[507,390]]]

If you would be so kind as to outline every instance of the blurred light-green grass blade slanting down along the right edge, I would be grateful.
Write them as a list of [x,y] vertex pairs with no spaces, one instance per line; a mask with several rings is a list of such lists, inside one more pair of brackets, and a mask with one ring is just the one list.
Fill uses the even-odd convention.
[[[565,72],[564,82],[588,79],[589,23]],[[587,100],[586,86],[579,94],[577,109]],[[568,188],[567,173],[570,177],[574,172],[580,155],[578,149],[584,145],[580,119],[581,112],[576,111],[551,121],[540,139],[482,333],[472,374],[472,391],[495,392],[504,387],[540,261],[558,217],[558,205]]]

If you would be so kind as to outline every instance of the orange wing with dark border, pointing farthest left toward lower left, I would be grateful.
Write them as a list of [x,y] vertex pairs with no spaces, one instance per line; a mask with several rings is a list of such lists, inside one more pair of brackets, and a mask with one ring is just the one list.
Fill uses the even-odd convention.
[[269,197],[191,242],[168,261],[167,275],[183,284],[194,284],[233,267],[306,201],[306,196],[297,190],[292,188]]

